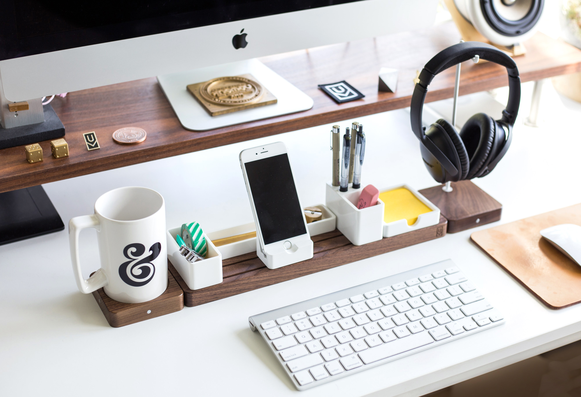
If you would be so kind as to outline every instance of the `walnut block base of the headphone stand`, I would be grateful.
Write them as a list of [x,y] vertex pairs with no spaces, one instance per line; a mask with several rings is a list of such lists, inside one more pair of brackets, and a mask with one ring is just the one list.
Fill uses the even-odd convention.
[[437,185],[419,192],[440,209],[448,220],[447,233],[457,233],[472,227],[500,220],[503,205],[471,181],[452,182],[453,190],[444,192]]

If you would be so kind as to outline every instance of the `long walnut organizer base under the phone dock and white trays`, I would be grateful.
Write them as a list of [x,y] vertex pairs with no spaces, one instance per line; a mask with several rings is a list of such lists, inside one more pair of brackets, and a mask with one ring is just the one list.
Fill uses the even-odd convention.
[[311,237],[314,242],[314,256],[312,259],[271,270],[264,266],[264,263],[256,256],[255,252],[235,256],[222,261],[224,281],[221,284],[196,289],[195,291],[189,289],[181,278],[180,273],[175,270],[169,260],[167,264],[171,274],[173,274],[175,280],[184,291],[185,306],[198,306],[440,238],[446,235],[446,225],[446,219],[440,216],[440,223],[437,225],[383,238],[365,245],[351,244],[339,230],[335,229],[329,233]]

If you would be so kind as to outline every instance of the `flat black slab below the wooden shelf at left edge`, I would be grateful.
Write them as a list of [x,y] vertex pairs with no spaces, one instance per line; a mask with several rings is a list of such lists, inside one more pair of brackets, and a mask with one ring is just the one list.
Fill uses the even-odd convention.
[[42,186],[0,193],[0,245],[63,229]]

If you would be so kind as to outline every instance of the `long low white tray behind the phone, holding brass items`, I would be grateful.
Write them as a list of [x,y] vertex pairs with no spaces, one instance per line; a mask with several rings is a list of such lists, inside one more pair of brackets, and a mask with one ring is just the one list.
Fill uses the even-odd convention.
[[[329,231],[335,230],[337,220],[335,214],[333,214],[326,206],[322,204],[311,205],[311,207],[318,207],[322,210],[323,213],[321,220],[307,224],[307,227],[309,228],[309,234],[311,236],[328,233]],[[256,231],[256,224],[254,224],[254,222],[211,231],[207,234],[207,237],[213,240],[217,240],[218,238],[250,233],[251,231]],[[231,242],[230,244],[220,245],[220,252],[222,253],[222,259],[228,259],[234,256],[243,255],[245,253],[256,252],[256,237],[247,238],[242,241]]]

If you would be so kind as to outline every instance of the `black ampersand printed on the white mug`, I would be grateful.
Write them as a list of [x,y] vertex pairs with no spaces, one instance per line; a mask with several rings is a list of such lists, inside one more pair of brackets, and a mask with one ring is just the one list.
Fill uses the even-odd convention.
[[133,287],[142,287],[151,281],[155,274],[155,266],[151,262],[159,256],[161,249],[162,245],[156,242],[149,248],[150,255],[142,257],[145,252],[145,245],[134,243],[125,246],[123,255],[130,260],[119,266],[121,280]]

